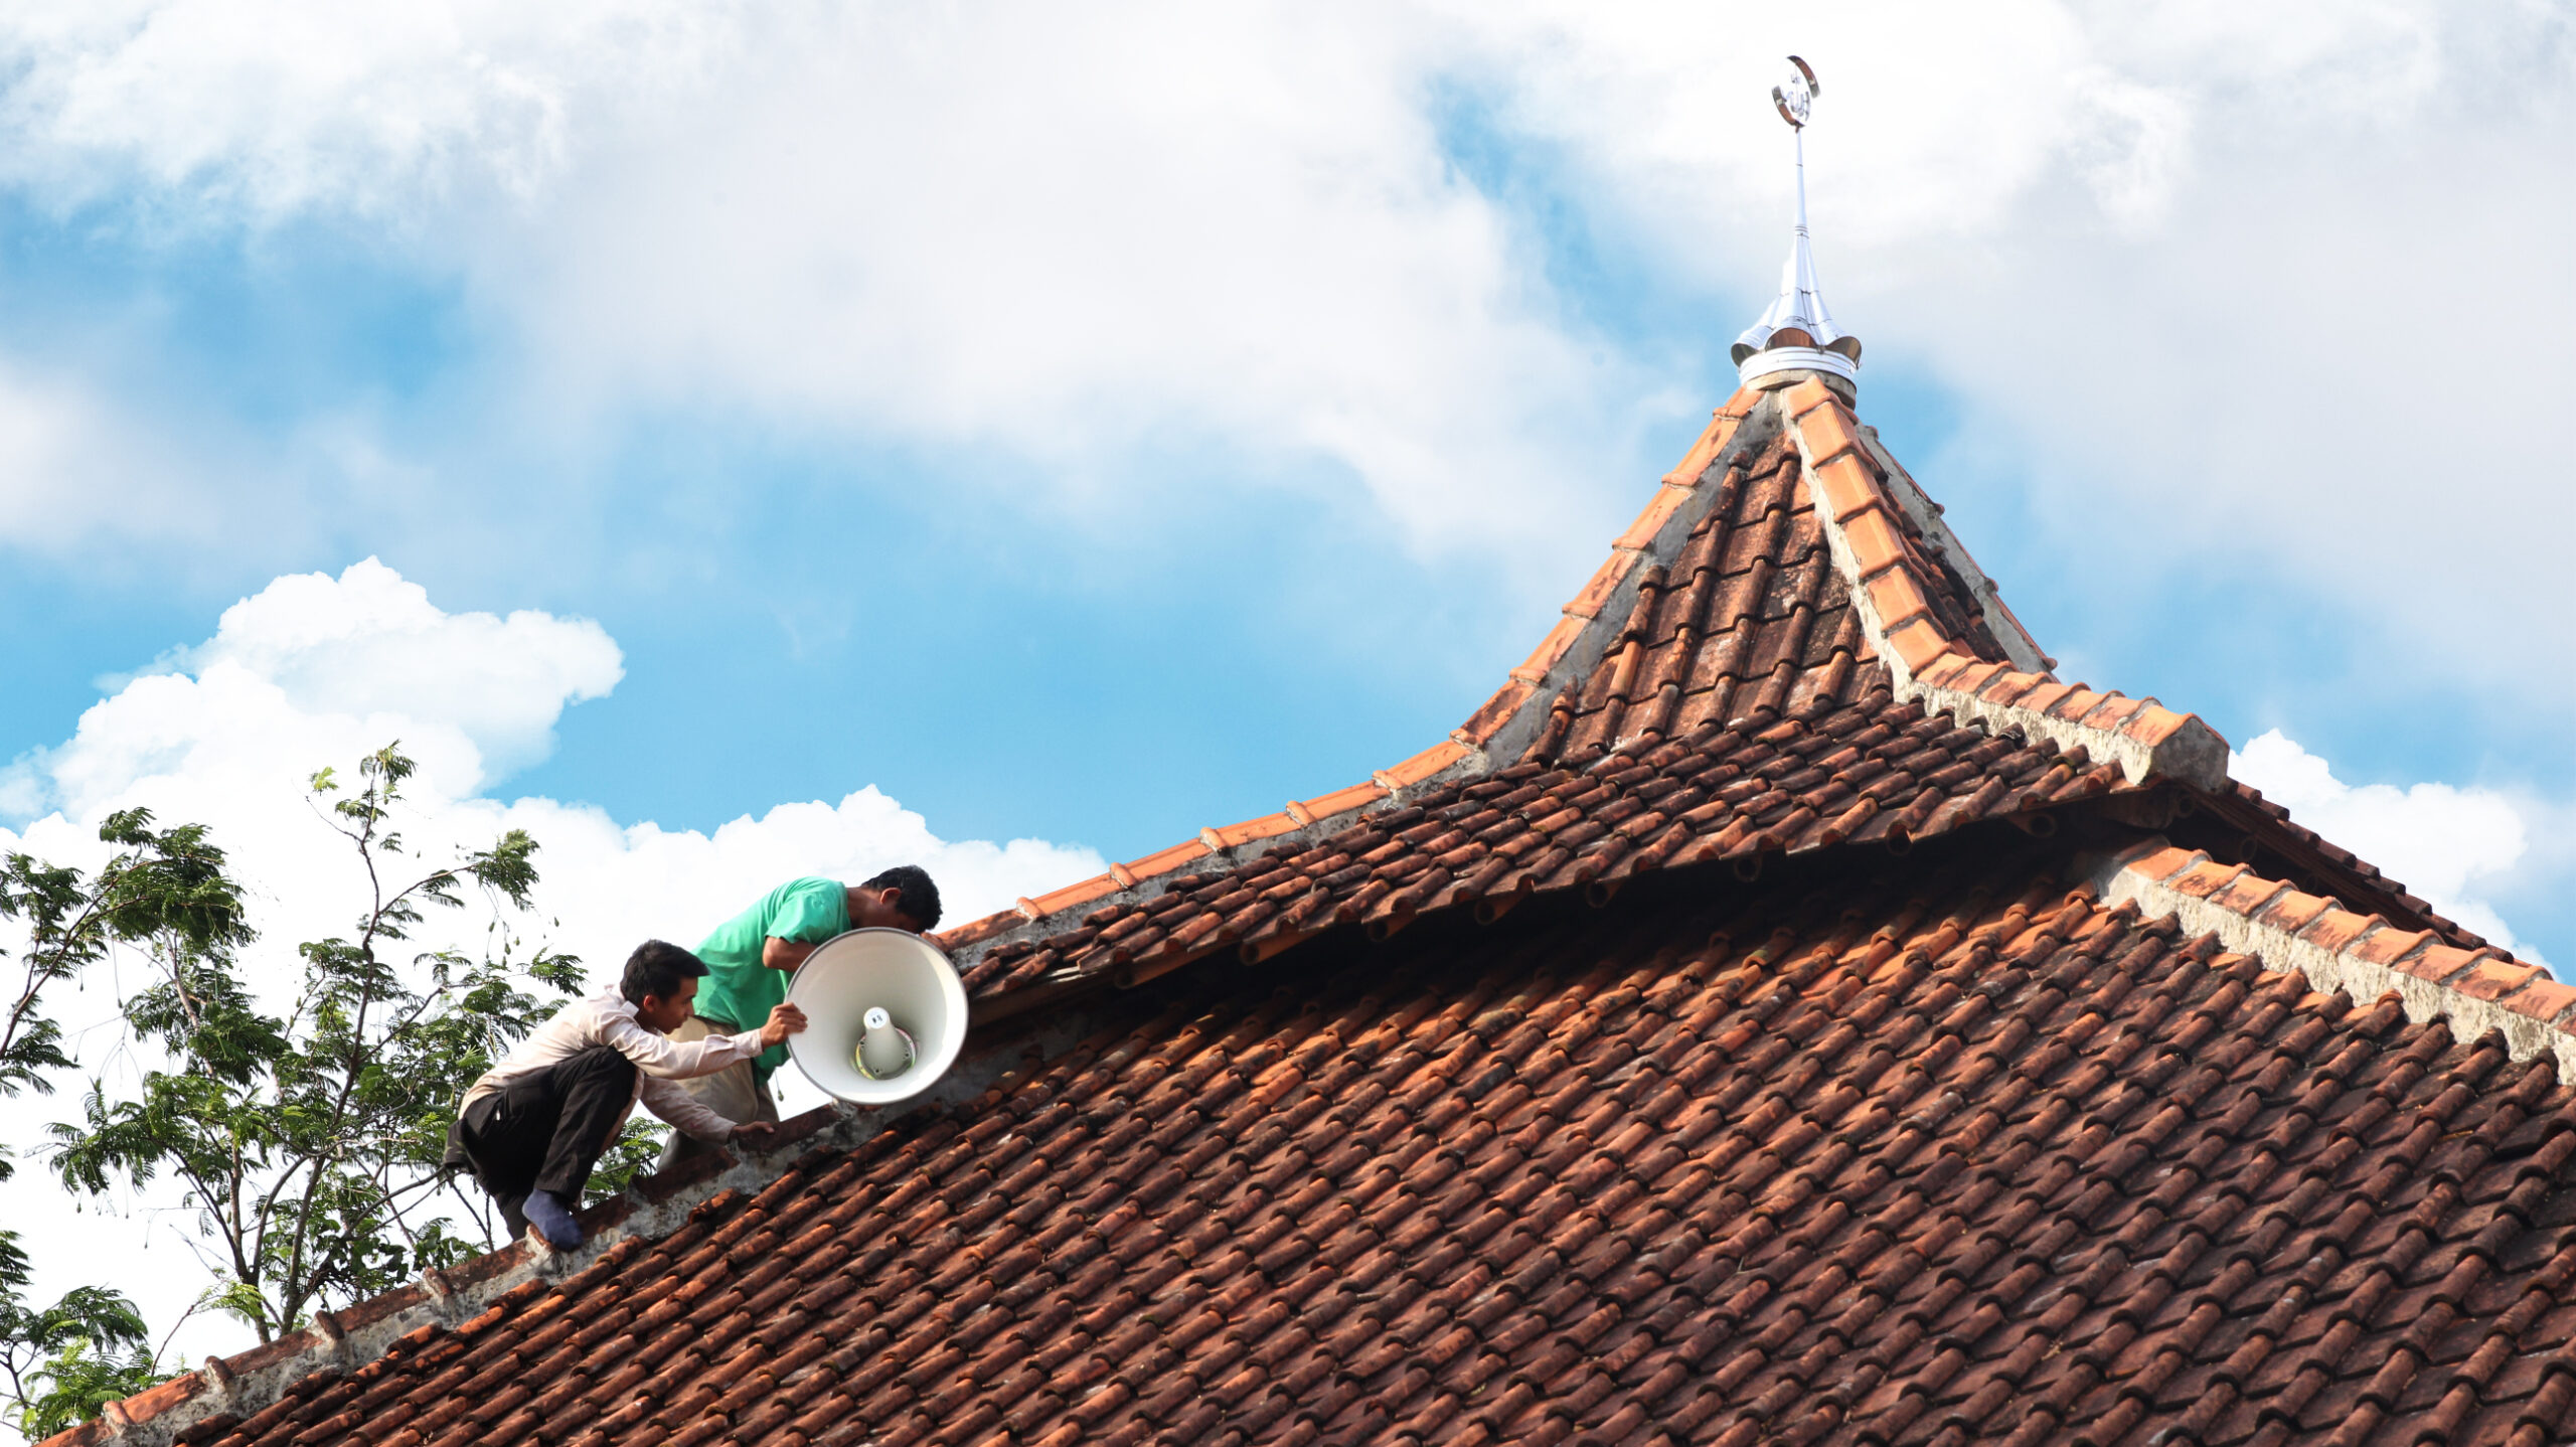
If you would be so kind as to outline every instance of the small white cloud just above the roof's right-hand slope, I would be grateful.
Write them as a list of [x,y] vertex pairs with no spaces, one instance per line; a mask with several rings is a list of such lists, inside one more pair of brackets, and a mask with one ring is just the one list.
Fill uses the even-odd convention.
[[2524,808],[2514,798],[2447,783],[2349,785],[2280,729],[2228,754],[2228,775],[2259,788],[2290,819],[2370,860],[2442,914],[2524,960],[2540,960],[2514,940],[2491,904],[2494,886],[2530,852]]

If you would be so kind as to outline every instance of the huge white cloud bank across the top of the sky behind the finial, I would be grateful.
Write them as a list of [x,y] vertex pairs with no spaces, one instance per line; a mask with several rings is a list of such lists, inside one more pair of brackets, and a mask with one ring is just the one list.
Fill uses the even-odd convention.
[[[0,18],[0,175],[144,227],[394,237],[528,368],[495,427],[747,409],[1056,499],[1180,438],[1239,481],[1347,469],[1417,546],[1553,592],[1680,407],[1453,165],[1443,106],[1747,299],[1716,350],[1783,245],[1788,49],[1826,80],[1837,309],[2027,461],[2066,546],[2277,572],[2576,703],[2509,667],[2576,525],[2537,422],[2576,384],[2558,5],[124,0]],[[2483,502],[2427,505],[2432,474]],[[2388,587],[2429,556],[2465,569]]]

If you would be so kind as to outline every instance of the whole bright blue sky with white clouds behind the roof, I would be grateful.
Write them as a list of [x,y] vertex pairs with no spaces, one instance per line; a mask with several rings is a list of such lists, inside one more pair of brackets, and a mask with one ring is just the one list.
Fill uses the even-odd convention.
[[1862,417],[2061,675],[2576,960],[2561,5],[0,18],[0,847],[211,819],[283,984],[397,734],[592,958],[1365,778],[1731,391],[1790,49]]

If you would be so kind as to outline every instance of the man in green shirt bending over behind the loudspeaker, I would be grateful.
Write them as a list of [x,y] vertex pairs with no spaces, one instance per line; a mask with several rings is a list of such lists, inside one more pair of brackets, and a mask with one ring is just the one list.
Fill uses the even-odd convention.
[[[739,1020],[768,1020],[773,1007],[786,1004],[796,966],[832,935],[876,924],[922,935],[938,922],[940,886],[930,883],[930,873],[920,865],[896,865],[855,886],[793,878],[698,945],[708,976],[698,989],[698,1014],[670,1038],[688,1043],[701,1035],[739,1035]],[[783,1063],[788,1053],[781,1045],[680,1087],[726,1120],[778,1120],[770,1074]],[[672,1166],[708,1151],[714,1146],[672,1133],[662,1164]]]

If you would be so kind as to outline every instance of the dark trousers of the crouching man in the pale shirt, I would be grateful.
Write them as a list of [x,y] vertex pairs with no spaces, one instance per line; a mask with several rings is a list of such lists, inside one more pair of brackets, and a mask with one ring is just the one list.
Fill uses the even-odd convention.
[[448,1128],[448,1166],[471,1166],[510,1236],[528,1231],[528,1192],[582,1205],[590,1166],[636,1097],[636,1063],[592,1045],[464,1107]]

